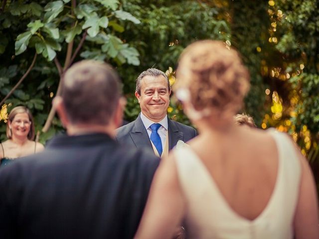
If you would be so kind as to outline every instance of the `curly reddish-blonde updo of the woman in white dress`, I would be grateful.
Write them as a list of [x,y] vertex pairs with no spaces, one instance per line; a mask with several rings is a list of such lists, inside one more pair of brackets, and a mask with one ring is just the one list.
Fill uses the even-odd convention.
[[175,90],[189,90],[196,111],[235,114],[249,89],[249,73],[238,53],[221,41],[190,44],[180,55]]

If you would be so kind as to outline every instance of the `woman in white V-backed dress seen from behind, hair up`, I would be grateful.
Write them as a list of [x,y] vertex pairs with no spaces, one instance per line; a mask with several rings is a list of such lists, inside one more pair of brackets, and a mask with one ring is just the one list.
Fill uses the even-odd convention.
[[199,129],[162,159],[137,239],[318,239],[310,167],[289,135],[243,127],[233,117],[249,74],[222,42],[198,41],[180,56],[176,97]]

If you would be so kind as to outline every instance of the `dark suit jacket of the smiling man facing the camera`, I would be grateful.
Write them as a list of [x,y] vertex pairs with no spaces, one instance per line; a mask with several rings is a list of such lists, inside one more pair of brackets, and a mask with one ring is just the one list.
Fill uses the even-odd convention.
[[[178,140],[187,142],[196,135],[194,128],[168,119],[168,150],[171,150]],[[152,143],[141,115],[133,122],[119,127],[116,140],[121,144],[134,145],[137,148],[148,148],[153,151]]]

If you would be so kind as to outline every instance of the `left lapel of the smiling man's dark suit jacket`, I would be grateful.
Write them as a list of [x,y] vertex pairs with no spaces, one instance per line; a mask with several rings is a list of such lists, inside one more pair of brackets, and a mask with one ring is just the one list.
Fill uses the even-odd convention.
[[146,131],[140,115],[135,120],[134,127],[130,132],[130,136],[132,137],[136,147],[149,147],[153,149],[148,132]]

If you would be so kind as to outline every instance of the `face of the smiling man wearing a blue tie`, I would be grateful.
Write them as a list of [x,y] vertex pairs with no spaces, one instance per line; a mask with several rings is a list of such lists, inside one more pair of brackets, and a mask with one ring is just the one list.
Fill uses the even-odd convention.
[[159,122],[167,113],[169,105],[167,80],[163,76],[145,76],[141,80],[141,95],[135,92],[143,115]]

